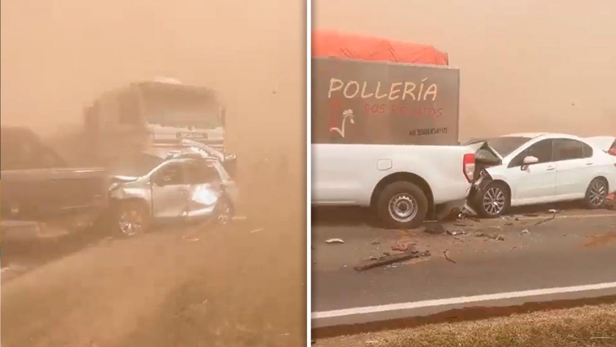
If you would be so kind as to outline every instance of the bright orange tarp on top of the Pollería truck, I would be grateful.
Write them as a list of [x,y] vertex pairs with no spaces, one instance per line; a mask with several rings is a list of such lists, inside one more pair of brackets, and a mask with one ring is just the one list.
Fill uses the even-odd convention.
[[312,31],[312,56],[447,65],[447,53],[424,44],[349,35],[330,30]]

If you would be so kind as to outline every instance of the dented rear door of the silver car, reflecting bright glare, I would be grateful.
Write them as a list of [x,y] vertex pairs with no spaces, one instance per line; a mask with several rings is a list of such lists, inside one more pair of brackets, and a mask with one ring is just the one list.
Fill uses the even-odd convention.
[[208,217],[222,196],[222,180],[211,162],[192,159],[185,163],[188,183],[188,217]]

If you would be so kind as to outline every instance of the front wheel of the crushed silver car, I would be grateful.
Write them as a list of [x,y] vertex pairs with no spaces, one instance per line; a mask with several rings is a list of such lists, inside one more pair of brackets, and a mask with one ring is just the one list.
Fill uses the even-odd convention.
[[150,228],[152,217],[142,201],[119,201],[115,204],[114,210],[115,230],[120,236],[139,235]]

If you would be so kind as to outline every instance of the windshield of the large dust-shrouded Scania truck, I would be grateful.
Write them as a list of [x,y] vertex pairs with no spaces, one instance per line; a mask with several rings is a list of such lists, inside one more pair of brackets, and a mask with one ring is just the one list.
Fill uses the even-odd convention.
[[142,84],[140,92],[150,123],[201,129],[222,126],[219,104],[212,93],[159,83]]

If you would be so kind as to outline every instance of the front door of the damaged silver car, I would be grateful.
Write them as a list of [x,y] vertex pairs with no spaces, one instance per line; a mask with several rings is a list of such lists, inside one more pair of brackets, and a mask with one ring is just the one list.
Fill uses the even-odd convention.
[[152,215],[168,219],[180,217],[187,210],[188,184],[182,161],[169,161],[156,170],[152,181]]

